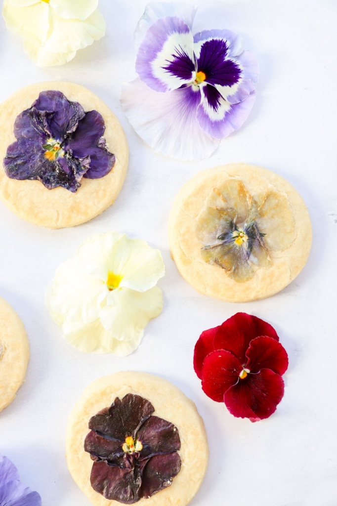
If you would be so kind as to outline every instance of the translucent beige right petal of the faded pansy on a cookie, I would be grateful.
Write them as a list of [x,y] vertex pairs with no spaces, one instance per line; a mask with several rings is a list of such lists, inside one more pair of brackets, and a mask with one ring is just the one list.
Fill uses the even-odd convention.
[[259,231],[268,249],[282,251],[290,246],[296,237],[292,210],[287,196],[269,190],[260,196]]

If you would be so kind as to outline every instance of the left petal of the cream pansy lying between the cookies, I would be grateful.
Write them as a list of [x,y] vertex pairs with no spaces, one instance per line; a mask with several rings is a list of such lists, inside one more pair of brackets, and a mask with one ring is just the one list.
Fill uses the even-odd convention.
[[79,272],[76,262],[70,259],[56,270],[46,293],[46,305],[57,323],[62,319],[88,323],[98,318],[106,292],[105,283]]

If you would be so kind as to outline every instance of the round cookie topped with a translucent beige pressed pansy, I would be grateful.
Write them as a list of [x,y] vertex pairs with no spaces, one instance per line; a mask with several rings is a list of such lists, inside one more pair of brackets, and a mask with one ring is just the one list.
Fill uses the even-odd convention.
[[203,171],[178,193],[168,223],[181,275],[229,302],[272,296],[304,267],[312,230],[299,193],[266,168],[232,163]]

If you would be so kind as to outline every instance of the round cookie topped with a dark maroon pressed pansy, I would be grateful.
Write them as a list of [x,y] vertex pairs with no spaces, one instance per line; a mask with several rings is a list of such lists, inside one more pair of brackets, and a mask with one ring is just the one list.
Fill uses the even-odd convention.
[[208,459],[194,403],[144,372],[89,385],[69,416],[66,444],[70,474],[95,506],[185,506]]

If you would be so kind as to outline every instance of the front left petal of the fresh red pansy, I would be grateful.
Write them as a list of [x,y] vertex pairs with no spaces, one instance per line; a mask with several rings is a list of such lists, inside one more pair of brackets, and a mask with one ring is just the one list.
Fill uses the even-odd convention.
[[202,390],[214,401],[223,402],[224,393],[238,382],[241,371],[240,362],[228,351],[209,353],[202,366]]

